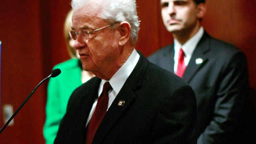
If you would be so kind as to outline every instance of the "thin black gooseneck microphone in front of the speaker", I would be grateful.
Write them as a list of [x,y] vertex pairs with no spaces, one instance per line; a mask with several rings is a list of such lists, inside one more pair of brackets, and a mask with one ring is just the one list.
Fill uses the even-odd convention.
[[8,126],[8,124],[12,121],[12,119],[14,118],[14,116],[16,116],[16,114],[20,111],[20,109],[22,108],[22,106],[24,106],[24,104],[28,101],[28,99],[32,96],[32,94],[36,91],[36,89],[38,88],[38,86],[40,86],[44,81],[48,80],[49,78],[54,78],[56,76],[58,76],[60,74],[60,69],[56,68],[54,70],[52,70],[51,74],[47,77],[44,78],[44,80],[42,80],[37,86],[36,88],[34,88],[34,90],[28,95],[28,97],[24,100],[24,102],[20,105],[20,107],[14,112],[14,114],[9,118],[9,120],[4,124],[4,126],[1,128],[0,130],[0,134],[2,133],[2,131],[6,128],[6,126]]

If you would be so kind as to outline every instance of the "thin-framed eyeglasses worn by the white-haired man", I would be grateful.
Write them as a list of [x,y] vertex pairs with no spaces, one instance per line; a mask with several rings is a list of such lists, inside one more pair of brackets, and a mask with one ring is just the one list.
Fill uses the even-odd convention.
[[92,34],[93,32],[96,32],[96,31],[98,31],[98,30],[102,30],[103,28],[107,28],[108,26],[111,26],[111,25],[112,25],[112,24],[107,25],[107,26],[104,26],[104,27],[102,27],[102,28],[98,28],[97,30],[93,30],[92,32],[89,32],[88,30],[80,30],[79,32],[76,32],[76,31],[74,31],[74,30],[71,30],[68,34],[69,34],[69,36],[70,36],[70,38],[71,38],[72,40],[76,40],[78,34],[80,34],[80,36],[83,36],[84,38],[88,39],[88,38],[91,38],[91,34]]

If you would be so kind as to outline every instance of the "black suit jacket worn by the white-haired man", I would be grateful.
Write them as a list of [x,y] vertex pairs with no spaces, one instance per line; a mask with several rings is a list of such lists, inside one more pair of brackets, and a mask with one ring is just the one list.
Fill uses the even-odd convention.
[[[85,144],[86,120],[100,82],[94,77],[73,92],[55,144]],[[118,107],[120,100],[125,101],[122,107]],[[195,124],[196,98],[192,88],[140,54],[92,144],[195,144],[196,139],[190,137]]]

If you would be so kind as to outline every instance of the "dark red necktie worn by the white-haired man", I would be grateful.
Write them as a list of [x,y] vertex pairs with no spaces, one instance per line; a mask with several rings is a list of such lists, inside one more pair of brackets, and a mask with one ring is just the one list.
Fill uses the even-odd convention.
[[92,118],[88,124],[87,134],[86,134],[86,144],[91,144],[92,139],[98,129],[100,122],[104,118],[107,108],[108,108],[108,91],[112,87],[110,86],[109,82],[106,82],[103,86],[102,93],[98,98],[98,102],[95,108],[94,113],[92,114]]

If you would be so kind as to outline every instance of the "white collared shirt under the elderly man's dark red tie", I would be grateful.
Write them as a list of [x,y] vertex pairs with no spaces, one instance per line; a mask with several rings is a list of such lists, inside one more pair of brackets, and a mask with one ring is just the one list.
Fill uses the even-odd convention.
[[[138,52],[134,49],[132,51],[132,54],[129,56],[129,58],[126,60],[126,62],[119,68],[119,70],[110,78],[109,83],[112,86],[112,90],[108,92],[108,108],[116,98],[117,94],[120,92],[122,86],[124,85],[125,81],[127,78],[130,76],[132,73],[132,70],[135,68],[136,64],[138,63],[138,60],[140,58],[140,55]],[[98,90],[98,97],[100,96],[102,90],[103,90],[103,85],[107,82],[106,80],[101,80],[100,82],[100,87]],[[94,113],[94,110],[97,105],[97,100],[92,105],[92,109],[90,111],[90,114],[88,116],[86,126],[89,123],[90,119],[92,118],[92,114]],[[108,111],[107,108],[107,111]]]

